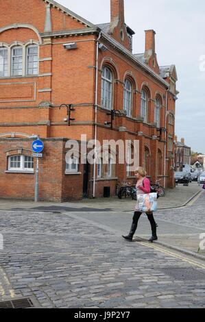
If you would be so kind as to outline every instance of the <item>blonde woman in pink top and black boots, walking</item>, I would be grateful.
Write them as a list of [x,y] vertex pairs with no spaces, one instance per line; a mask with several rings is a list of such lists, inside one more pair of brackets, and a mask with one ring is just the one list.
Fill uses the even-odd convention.
[[[139,166],[135,171],[135,175],[136,175],[136,179],[137,179],[137,182],[136,182],[137,196],[150,193],[151,186],[150,186],[149,179],[146,178],[147,173],[146,173],[145,169],[143,169],[141,166]],[[128,236],[123,236],[123,238],[125,238],[126,240],[132,241],[132,238],[134,236],[134,233],[136,232],[138,220],[140,219],[141,214],[142,214],[142,212],[139,209],[138,203],[136,203],[130,234],[128,234]],[[152,243],[154,240],[158,240],[158,237],[156,235],[157,225],[154,220],[153,212],[149,212],[146,214],[147,214],[147,219],[149,220],[149,223],[152,228],[152,237],[149,239],[149,242]]]

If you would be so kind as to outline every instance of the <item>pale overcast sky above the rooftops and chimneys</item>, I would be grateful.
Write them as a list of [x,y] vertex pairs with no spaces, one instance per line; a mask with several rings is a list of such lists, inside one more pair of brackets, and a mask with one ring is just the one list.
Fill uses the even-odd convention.
[[[91,23],[110,22],[110,0],[57,2]],[[144,51],[145,29],[156,31],[158,64],[176,64],[178,72],[178,140],[184,137],[193,151],[205,153],[205,1],[125,0],[125,22],[136,32],[133,53]]]

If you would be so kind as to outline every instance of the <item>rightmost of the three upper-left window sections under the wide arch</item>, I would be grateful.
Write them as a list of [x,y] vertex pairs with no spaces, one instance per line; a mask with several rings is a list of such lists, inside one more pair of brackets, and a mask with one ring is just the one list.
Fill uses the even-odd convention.
[[38,46],[29,45],[26,47],[26,74],[38,74]]

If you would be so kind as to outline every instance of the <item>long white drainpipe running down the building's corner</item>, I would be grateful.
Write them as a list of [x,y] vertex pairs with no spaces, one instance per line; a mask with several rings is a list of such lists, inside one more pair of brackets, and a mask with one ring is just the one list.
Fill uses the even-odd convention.
[[97,91],[98,91],[98,58],[99,58],[99,39],[96,42],[96,62],[95,62],[95,159],[93,164],[93,198],[95,198],[95,182],[96,182],[96,160],[97,160]]

